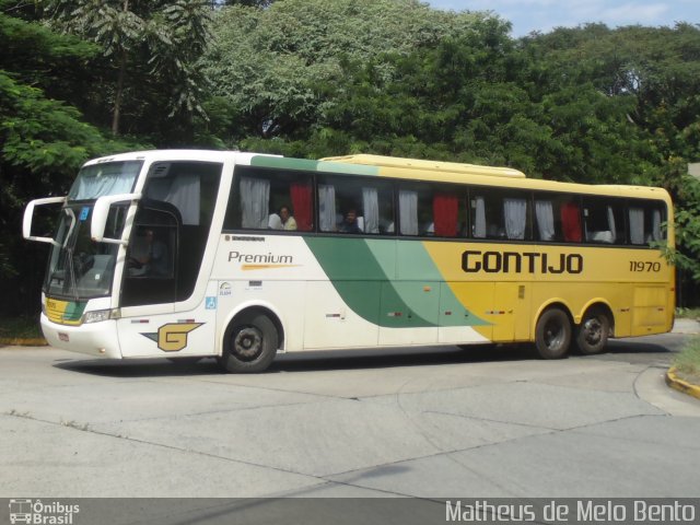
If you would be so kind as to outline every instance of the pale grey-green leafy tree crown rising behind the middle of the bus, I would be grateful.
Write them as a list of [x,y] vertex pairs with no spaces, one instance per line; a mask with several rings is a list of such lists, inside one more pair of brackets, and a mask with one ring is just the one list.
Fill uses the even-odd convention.
[[[482,13],[447,13],[418,0],[284,0],[268,9],[231,5],[215,12],[205,68],[213,95],[236,122],[220,129],[230,145],[245,137],[303,138],[332,109],[346,81],[342,63],[375,61],[392,77],[386,54],[408,55],[447,34],[468,32]],[[336,91],[338,89],[338,91]]]

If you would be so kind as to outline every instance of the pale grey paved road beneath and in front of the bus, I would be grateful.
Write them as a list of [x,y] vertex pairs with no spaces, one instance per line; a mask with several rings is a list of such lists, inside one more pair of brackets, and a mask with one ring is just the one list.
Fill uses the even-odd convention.
[[455,347],[105,362],[0,348],[0,497],[700,497],[682,335],[598,357]]

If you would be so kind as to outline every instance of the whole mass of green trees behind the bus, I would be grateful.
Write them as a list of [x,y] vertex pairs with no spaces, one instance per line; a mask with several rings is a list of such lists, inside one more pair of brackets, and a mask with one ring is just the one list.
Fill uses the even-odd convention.
[[0,315],[35,315],[33,198],[151,148],[377,153],[663,186],[680,302],[700,282],[700,27],[510,36],[417,0],[0,0]]

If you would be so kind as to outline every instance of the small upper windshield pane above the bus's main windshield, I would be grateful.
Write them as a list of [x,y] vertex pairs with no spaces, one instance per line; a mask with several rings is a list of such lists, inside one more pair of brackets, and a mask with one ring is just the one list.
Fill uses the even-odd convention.
[[68,200],[94,200],[107,195],[128,194],[143,162],[107,162],[84,166],[68,192]]

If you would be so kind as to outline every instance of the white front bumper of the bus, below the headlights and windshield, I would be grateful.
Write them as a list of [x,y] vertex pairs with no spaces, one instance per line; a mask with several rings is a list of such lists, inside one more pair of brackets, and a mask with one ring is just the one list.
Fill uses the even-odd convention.
[[97,358],[121,359],[114,319],[70,326],[52,323],[42,314],[42,331],[51,347]]

